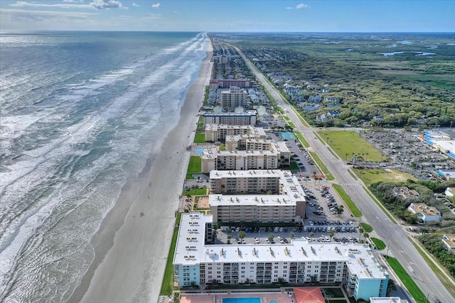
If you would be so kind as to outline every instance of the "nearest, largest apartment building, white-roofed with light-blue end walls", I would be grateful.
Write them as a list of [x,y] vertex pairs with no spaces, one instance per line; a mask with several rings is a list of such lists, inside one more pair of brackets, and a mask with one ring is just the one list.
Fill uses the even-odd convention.
[[287,244],[205,244],[211,214],[183,213],[173,255],[174,279],[180,287],[247,281],[270,284],[343,283],[355,299],[384,297],[389,275],[367,245],[308,242]]

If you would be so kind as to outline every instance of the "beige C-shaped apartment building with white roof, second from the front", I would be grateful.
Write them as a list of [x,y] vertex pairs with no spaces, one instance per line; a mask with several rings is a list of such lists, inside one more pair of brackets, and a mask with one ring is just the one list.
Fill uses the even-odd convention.
[[289,171],[213,170],[210,192],[210,213],[218,223],[289,223],[305,217],[306,194]]

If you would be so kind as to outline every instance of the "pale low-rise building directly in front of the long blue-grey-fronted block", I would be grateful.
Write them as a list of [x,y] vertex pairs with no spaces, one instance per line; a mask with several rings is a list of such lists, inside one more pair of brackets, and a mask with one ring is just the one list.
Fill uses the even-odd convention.
[[255,138],[267,138],[264,128],[242,125],[205,124],[205,141],[225,142],[227,136],[254,135]]

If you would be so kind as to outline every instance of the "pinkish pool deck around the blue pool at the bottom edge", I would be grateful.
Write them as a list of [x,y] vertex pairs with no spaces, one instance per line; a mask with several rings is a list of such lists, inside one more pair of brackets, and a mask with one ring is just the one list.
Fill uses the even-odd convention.
[[250,293],[231,293],[228,294],[182,294],[180,297],[181,303],[223,303],[223,298],[245,298],[245,297],[259,297],[261,303],[269,303],[270,301],[276,301],[277,303],[290,303],[296,302],[294,294],[291,293],[291,297],[287,292],[250,292]]

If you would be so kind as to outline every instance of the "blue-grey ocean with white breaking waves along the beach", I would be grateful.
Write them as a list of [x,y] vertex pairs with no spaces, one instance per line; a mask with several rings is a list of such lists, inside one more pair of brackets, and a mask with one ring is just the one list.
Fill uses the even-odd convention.
[[0,33],[0,302],[70,297],[102,219],[176,126],[207,44],[205,33]]

